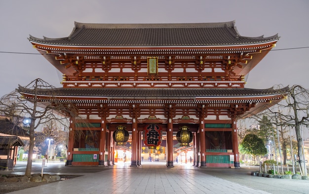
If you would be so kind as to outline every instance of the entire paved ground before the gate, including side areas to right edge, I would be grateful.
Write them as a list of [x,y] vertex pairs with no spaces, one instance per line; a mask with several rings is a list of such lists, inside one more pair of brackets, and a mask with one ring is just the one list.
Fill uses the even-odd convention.
[[[107,167],[73,167],[49,163],[44,173],[78,175],[76,178],[29,188],[12,194],[307,194],[309,181],[281,180],[250,175],[255,169],[197,168],[161,162],[141,167],[122,163]],[[41,167],[33,163],[33,172]],[[17,165],[12,174],[24,171]],[[39,172],[37,172],[39,171]],[[53,172],[52,172],[53,171]],[[0,174],[3,174],[0,171]],[[80,176],[82,175],[82,176]],[[292,186],[289,186],[292,183]],[[285,185],[285,186],[284,186]]]

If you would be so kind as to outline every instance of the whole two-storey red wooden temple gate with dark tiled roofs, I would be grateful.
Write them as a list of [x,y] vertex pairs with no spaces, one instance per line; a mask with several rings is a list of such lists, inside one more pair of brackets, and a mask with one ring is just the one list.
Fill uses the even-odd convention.
[[[57,99],[74,103],[89,123],[71,122],[67,165],[114,164],[113,133],[123,134],[121,126],[130,134],[131,166],[138,166],[142,134],[156,124],[168,167],[183,126],[193,134],[194,165],[239,167],[238,116],[282,99],[272,88],[245,88],[244,77],[278,39],[242,37],[234,22],[76,22],[69,37],[29,38],[64,74]],[[85,138],[76,141],[77,130]]]

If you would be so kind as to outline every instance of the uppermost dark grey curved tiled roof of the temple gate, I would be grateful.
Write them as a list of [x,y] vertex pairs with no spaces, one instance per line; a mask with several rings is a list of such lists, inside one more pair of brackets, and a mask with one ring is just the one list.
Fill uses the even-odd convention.
[[75,22],[71,35],[65,38],[35,38],[41,44],[98,47],[219,46],[270,42],[278,35],[264,38],[243,37],[235,22],[188,24],[88,24]]

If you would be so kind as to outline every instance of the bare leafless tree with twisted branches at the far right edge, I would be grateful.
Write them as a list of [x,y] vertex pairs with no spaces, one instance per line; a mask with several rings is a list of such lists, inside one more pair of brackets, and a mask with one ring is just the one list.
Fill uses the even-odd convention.
[[[280,88],[279,88],[280,89]],[[253,115],[248,114],[255,119],[262,118],[261,115],[268,116],[270,122],[278,128],[280,132],[279,137],[282,139],[282,147],[285,148],[286,141],[289,137],[284,136],[286,133],[285,128],[287,126],[295,129],[298,157],[301,166],[302,174],[305,174],[305,160],[303,153],[303,136],[302,126],[309,126],[309,90],[300,85],[293,85],[286,91],[282,89],[282,95],[285,96],[285,100],[281,100],[277,103],[277,106],[261,107],[261,114]]]

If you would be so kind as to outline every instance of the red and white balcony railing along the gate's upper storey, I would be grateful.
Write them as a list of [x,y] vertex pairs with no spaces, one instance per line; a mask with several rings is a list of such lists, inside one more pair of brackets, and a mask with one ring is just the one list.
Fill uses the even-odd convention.
[[67,76],[62,81],[64,87],[243,87],[241,76]]

